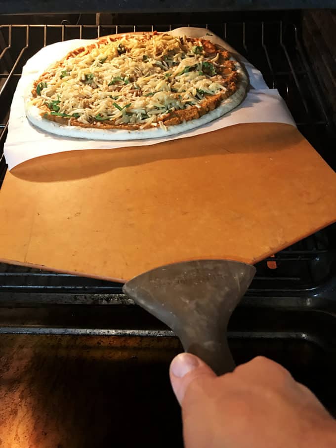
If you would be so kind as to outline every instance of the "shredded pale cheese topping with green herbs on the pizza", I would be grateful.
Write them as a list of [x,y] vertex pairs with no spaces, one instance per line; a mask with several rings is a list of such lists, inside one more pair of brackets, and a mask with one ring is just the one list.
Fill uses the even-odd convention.
[[[203,44],[202,44],[203,42]],[[165,126],[167,114],[224,93],[219,52],[168,34],[106,38],[42,75],[31,103],[45,114],[92,122]],[[35,93],[35,95],[34,95]]]

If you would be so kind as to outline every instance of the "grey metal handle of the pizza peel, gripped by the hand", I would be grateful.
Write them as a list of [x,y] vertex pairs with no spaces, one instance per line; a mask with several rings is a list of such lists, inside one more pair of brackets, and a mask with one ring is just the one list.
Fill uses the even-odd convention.
[[218,375],[234,370],[227,325],[252,282],[254,266],[228,260],[174,263],[129,280],[124,292],[180,338]]

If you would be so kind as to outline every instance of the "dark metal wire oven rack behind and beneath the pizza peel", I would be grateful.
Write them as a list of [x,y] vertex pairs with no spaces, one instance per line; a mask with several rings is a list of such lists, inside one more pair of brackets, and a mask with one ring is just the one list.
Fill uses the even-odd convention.
[[[333,165],[336,132],[328,104],[320,93],[299,30],[283,20],[228,21],[167,25],[1,25],[0,26],[0,148],[7,133],[9,107],[22,68],[40,48],[57,41],[93,39],[133,31],[169,31],[179,26],[208,28],[237,49],[277,88],[298,129]],[[0,179],[6,165],[0,159]],[[270,181],[271,184],[271,181]],[[276,188],[276,185],[274,185]],[[275,224],[276,225],[276,224]],[[257,264],[257,275],[243,304],[330,307],[336,290],[335,226],[312,235]],[[276,262],[271,269],[269,262]],[[120,284],[0,265],[0,306],[132,305]]]

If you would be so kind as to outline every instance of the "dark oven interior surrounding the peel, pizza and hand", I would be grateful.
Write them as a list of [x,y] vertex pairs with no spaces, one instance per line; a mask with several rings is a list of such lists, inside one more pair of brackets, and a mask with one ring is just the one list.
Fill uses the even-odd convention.
[[[22,68],[42,46],[189,25],[209,28],[251,61],[335,169],[336,11],[327,9],[335,2],[288,0],[284,10],[274,3],[210,2],[207,10],[174,0],[2,5],[1,149]],[[311,7],[320,9],[300,9]],[[2,156],[1,181],[5,172]],[[270,188],[277,188],[272,179]],[[256,268],[229,323],[236,362],[256,355],[280,362],[336,415],[336,227]],[[120,284],[1,264],[0,441],[12,448],[182,446],[168,381],[181,350]]]

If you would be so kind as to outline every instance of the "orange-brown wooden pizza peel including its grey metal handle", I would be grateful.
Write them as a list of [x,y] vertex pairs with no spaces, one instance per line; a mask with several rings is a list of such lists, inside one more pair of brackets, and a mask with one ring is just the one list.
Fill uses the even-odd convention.
[[[0,219],[0,259],[8,263],[124,282],[208,260],[182,263],[180,276],[176,265],[155,269],[125,290],[178,335],[208,313],[211,331],[181,339],[223,372],[232,360],[228,352],[218,365],[213,341],[225,351],[226,323],[252,280],[251,265],[336,221],[336,174],[293,126],[239,124],[153,146],[25,162],[6,173]],[[209,260],[243,263],[214,261],[211,271]],[[207,293],[195,272],[200,282],[205,273],[212,279]],[[223,306],[228,273],[234,281]],[[176,291],[188,296],[182,307],[169,299],[182,297]],[[188,312],[178,325],[164,316],[181,310]]]

